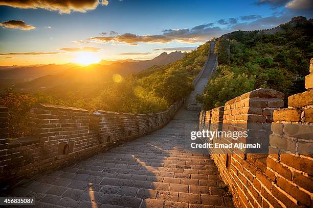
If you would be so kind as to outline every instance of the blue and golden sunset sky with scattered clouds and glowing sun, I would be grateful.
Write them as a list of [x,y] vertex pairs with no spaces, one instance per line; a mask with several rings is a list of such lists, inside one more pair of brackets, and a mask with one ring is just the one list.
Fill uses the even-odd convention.
[[0,65],[151,59],[312,11],[313,0],[1,0]]

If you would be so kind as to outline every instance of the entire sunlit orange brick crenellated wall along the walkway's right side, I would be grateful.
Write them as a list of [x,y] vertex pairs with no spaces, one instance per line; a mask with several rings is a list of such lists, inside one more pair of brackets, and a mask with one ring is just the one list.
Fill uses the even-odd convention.
[[200,114],[200,130],[247,131],[237,140],[214,137],[210,143],[261,143],[260,152],[210,148],[236,207],[312,207],[313,59],[306,92],[288,97],[257,89]]

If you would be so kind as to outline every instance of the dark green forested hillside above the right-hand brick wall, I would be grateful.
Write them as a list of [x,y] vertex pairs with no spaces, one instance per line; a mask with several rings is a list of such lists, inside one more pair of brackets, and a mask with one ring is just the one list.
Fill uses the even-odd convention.
[[283,29],[275,34],[236,31],[230,40],[217,40],[218,70],[197,97],[206,110],[260,87],[283,92],[285,98],[305,91],[304,76],[313,57],[312,24]]

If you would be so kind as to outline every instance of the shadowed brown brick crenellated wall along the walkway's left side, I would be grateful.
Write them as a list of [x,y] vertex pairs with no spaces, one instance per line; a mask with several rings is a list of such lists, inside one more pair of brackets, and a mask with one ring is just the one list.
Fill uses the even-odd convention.
[[40,104],[31,109],[31,135],[10,139],[8,109],[0,108],[0,181],[14,183],[53,171],[166,125],[182,105],[166,111],[129,114]]

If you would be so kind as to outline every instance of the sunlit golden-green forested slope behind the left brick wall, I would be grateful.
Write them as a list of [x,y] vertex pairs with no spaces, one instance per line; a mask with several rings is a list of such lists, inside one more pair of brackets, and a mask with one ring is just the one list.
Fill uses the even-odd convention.
[[207,42],[176,62],[165,66],[152,66],[138,74],[130,74],[126,77],[115,74],[113,81],[81,90],[73,86],[72,92],[61,88],[58,88],[55,93],[50,91],[50,94],[7,91],[0,97],[0,105],[9,108],[11,137],[28,134],[28,112],[39,102],[84,108],[90,111],[129,113],[163,111],[174,101],[187,96],[192,91],[192,81],[203,67],[209,49],[210,43]]

